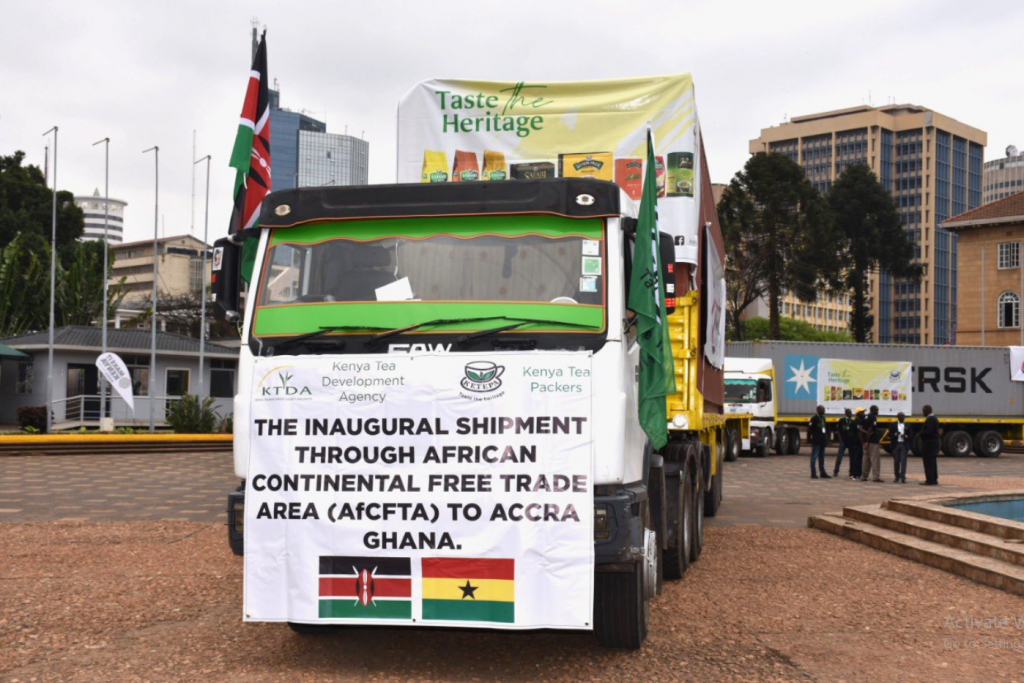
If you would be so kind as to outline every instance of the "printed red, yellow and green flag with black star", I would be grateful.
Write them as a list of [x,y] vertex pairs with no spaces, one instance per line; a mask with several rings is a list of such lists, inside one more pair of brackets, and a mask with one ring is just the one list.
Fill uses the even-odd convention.
[[515,560],[423,558],[423,618],[515,623]]

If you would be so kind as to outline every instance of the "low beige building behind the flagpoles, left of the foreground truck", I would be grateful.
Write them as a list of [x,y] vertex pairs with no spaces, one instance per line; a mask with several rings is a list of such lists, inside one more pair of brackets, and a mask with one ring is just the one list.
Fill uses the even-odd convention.
[[[162,238],[157,241],[158,264],[157,292],[160,297],[179,297],[199,294],[203,289],[203,250],[209,250],[202,240],[190,234]],[[116,284],[125,278],[128,294],[125,304],[145,301],[153,296],[153,240],[128,242],[113,248],[114,267],[110,282]],[[210,254],[206,260],[206,281],[210,282]]]

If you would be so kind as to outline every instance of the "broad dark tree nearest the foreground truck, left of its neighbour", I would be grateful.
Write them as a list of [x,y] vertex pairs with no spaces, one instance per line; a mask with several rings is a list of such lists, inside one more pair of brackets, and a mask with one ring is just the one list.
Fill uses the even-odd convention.
[[[750,267],[738,268],[742,303],[761,291],[768,296],[769,337],[779,339],[782,295],[812,302],[818,291],[839,287],[838,233],[828,211],[804,170],[785,155],[759,153],[733,177],[718,205],[730,253]],[[734,283],[733,288],[737,288]],[[746,304],[759,297],[754,297]],[[735,321],[742,308],[733,310]]]

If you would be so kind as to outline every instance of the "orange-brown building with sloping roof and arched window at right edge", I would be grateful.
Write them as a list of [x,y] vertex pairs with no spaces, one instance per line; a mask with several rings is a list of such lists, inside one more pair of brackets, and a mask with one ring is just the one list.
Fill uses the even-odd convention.
[[956,234],[961,270],[972,273],[956,292],[956,343],[1024,345],[1024,191],[953,216],[942,227]]

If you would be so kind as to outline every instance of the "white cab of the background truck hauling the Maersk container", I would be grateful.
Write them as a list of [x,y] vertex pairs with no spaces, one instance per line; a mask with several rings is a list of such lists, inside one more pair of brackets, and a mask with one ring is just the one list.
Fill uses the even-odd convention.
[[750,438],[741,441],[746,455],[764,458],[800,453],[800,429],[779,423],[775,399],[775,370],[771,358],[725,358],[725,412],[751,416]]

